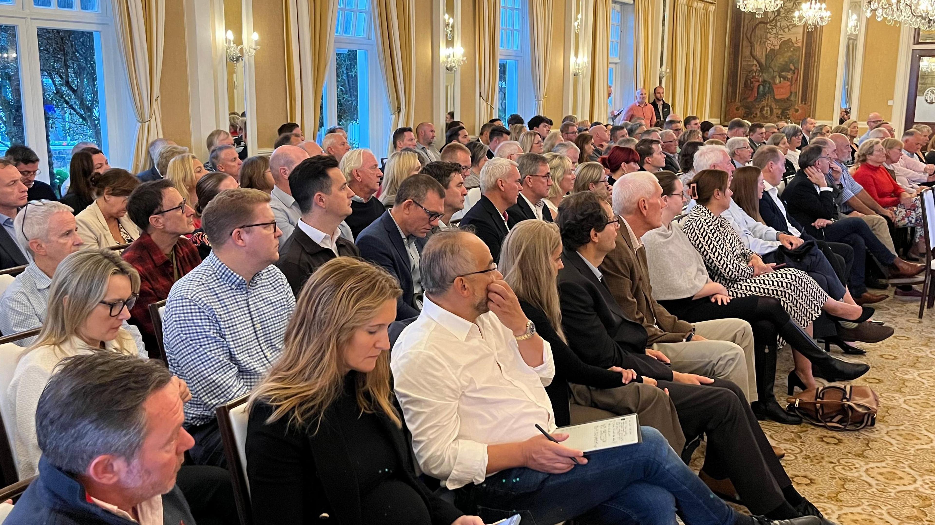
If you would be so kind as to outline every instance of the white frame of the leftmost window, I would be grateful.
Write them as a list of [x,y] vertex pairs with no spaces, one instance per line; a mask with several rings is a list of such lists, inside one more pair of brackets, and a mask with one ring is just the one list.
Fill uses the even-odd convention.
[[[79,2],[80,0],[76,0]],[[54,2],[53,2],[54,4]],[[16,0],[13,5],[0,4],[0,24],[16,26],[20,90],[22,98],[23,134],[26,146],[39,157],[41,180],[49,181],[49,158],[46,144],[45,111],[42,106],[42,75],[39,67],[38,28],[92,31],[100,35],[100,56],[103,76],[98,89],[106,93],[98,98],[101,113],[101,146],[110,165],[129,167],[136,145],[137,120],[133,98],[126,78],[126,65],[114,30],[109,0],[98,0],[97,12],[79,9],[35,7],[33,0]],[[37,93],[37,94],[36,94]]]

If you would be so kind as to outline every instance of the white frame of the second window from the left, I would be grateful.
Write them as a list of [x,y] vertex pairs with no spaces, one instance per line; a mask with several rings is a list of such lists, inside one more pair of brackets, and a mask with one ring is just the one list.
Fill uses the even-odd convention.
[[[365,50],[367,51],[367,118],[361,118],[361,141],[358,148],[372,149],[376,156],[382,156],[386,146],[386,137],[390,135],[390,125],[393,116],[389,112],[389,100],[386,94],[386,78],[383,76],[379,49],[374,35],[373,26],[376,23],[376,13],[373,9],[373,0],[367,4],[369,20],[367,21],[367,35],[347,36],[335,35],[335,53],[338,50]],[[351,9],[356,11],[356,9]],[[336,28],[337,31],[337,21]],[[327,79],[324,82],[322,106],[324,107],[324,129],[338,125],[338,88],[337,64],[335,56],[329,58]],[[366,142],[364,137],[366,136]],[[321,139],[321,137],[318,137]]]

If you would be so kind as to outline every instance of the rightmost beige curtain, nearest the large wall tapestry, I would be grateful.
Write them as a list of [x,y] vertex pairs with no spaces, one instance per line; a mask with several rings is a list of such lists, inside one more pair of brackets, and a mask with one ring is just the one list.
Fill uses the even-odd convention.
[[672,85],[669,103],[680,115],[708,115],[711,108],[714,3],[676,0],[672,14]]

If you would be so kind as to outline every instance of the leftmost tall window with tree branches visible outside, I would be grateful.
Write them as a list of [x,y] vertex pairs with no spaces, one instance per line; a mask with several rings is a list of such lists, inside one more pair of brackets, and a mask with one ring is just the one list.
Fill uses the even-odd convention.
[[67,177],[79,142],[130,163],[136,120],[124,77],[108,0],[0,0],[0,152],[35,149],[40,178]]

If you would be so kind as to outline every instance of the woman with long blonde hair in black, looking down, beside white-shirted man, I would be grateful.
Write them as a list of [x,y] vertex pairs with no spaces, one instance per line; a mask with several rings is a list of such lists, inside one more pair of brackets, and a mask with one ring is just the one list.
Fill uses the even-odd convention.
[[390,385],[396,277],[325,262],[299,292],[280,358],[253,389],[247,473],[253,523],[359,517],[382,525],[482,525],[427,490]]

